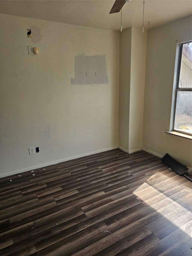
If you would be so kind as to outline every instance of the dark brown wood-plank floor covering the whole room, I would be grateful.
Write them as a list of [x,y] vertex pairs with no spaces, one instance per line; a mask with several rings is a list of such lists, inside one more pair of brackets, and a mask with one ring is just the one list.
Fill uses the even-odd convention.
[[154,155],[114,149],[18,175],[0,179],[1,256],[191,256],[191,182]]

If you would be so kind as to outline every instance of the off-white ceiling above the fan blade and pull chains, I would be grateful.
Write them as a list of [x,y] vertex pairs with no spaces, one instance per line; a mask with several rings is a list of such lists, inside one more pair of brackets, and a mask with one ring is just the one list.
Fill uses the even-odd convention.
[[[109,14],[115,0],[0,1],[0,13],[119,31],[121,12]],[[144,28],[152,29],[192,13],[191,0],[145,0]],[[148,25],[150,22],[150,25]],[[143,0],[126,2],[122,27],[142,28]]]

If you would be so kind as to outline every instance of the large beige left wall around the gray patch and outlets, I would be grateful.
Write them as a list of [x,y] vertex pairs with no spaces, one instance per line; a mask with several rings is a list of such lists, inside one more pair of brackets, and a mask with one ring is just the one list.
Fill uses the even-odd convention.
[[[119,32],[0,17],[0,176],[117,148]],[[70,84],[80,54],[105,55],[107,84]]]

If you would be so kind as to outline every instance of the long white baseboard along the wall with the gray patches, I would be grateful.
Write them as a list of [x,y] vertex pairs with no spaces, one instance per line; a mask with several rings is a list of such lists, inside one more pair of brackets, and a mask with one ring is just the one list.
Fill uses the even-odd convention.
[[24,172],[27,172],[27,171],[31,171],[33,169],[38,169],[38,168],[42,168],[42,167],[53,165],[53,164],[58,164],[58,163],[66,162],[66,161],[69,161],[69,160],[72,160],[72,159],[76,159],[76,158],[81,158],[81,157],[87,156],[87,155],[94,155],[94,154],[105,152],[105,151],[109,151],[109,150],[112,150],[112,149],[118,149],[118,146],[107,148],[107,149],[101,149],[101,150],[97,150],[97,151],[94,151],[94,152],[88,152],[88,153],[85,153],[85,154],[82,154],[82,155],[76,155],[76,156],[73,156],[73,157],[63,158],[63,159],[59,159],[59,160],[56,160],[56,161],[52,161],[52,162],[48,162],[48,163],[44,163],[44,164],[40,164],[40,165],[31,166],[29,168],[16,170],[16,171],[9,172],[9,173],[3,173],[3,174],[0,174],[0,178],[11,176],[11,175],[15,175],[15,174],[19,174],[19,173],[24,173]]

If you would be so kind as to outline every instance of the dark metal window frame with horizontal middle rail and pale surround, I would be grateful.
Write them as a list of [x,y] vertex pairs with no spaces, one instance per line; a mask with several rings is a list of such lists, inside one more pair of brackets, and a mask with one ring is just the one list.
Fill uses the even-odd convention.
[[180,71],[181,71],[181,64],[182,64],[182,51],[183,51],[183,45],[184,44],[188,44],[191,43],[192,41],[186,41],[183,43],[179,43],[179,55],[178,55],[178,61],[177,61],[177,76],[176,76],[176,87],[175,87],[175,97],[174,97],[174,111],[173,111],[173,122],[172,122],[172,131],[173,132],[178,132],[181,134],[187,134],[192,136],[191,133],[187,133],[184,131],[180,131],[180,130],[176,130],[175,129],[175,120],[176,120],[176,107],[177,107],[177,95],[179,91],[184,91],[184,92],[191,92],[192,91],[192,87],[179,87],[179,78],[180,78]]

